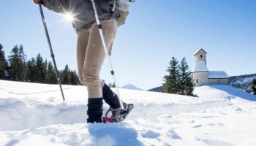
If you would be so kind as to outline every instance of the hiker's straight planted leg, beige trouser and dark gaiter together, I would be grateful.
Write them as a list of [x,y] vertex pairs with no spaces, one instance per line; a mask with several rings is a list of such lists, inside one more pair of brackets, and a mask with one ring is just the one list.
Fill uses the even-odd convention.
[[[102,27],[105,34],[105,41],[108,46],[113,42],[116,34],[116,20],[102,20]],[[89,43],[86,50],[86,58],[83,63],[83,82],[87,85],[89,103],[87,114],[88,122],[102,121],[102,82],[99,79],[99,72],[105,61],[105,50],[99,34],[97,24],[90,28]]]

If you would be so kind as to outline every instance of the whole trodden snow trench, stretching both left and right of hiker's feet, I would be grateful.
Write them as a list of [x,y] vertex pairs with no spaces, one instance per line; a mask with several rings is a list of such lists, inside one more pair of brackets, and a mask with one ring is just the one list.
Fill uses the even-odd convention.
[[[205,101],[200,104],[135,104],[127,120],[144,118],[158,121],[161,115],[178,115],[214,107],[229,106],[229,101]],[[105,105],[106,106],[106,105]],[[0,131],[17,131],[52,124],[75,124],[86,121],[86,102],[39,102],[33,99],[0,99]],[[108,107],[105,107],[106,111]],[[151,111],[151,112],[148,112]],[[162,114],[159,114],[162,113]]]

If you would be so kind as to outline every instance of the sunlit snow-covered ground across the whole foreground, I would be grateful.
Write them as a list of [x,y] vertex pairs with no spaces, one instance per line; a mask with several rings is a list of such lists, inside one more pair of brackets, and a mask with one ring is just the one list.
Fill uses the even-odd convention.
[[85,87],[64,93],[0,80],[0,145],[256,145],[256,96],[230,86],[197,87],[199,98],[121,89],[135,109],[108,124],[86,123]]

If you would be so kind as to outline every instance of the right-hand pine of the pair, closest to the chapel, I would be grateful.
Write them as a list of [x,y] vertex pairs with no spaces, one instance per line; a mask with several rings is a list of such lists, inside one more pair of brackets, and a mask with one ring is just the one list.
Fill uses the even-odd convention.
[[186,96],[195,96],[193,94],[195,85],[193,83],[192,72],[189,71],[189,66],[187,65],[186,58],[182,58],[181,66],[179,66],[180,70],[180,79],[179,79],[179,87],[181,95]]

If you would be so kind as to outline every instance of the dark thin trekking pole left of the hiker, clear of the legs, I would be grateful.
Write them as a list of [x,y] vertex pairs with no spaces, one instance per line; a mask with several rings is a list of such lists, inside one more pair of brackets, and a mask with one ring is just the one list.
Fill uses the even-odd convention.
[[41,4],[39,4],[39,10],[40,10],[41,17],[42,17],[42,23],[45,27],[45,34],[46,34],[46,38],[48,40],[48,45],[50,47],[50,55],[51,55],[51,58],[53,59],[53,65],[54,65],[56,76],[57,76],[57,79],[58,79],[58,82],[59,82],[59,87],[61,88],[61,95],[62,95],[63,101],[65,101],[64,93],[63,93],[63,90],[62,90],[62,87],[61,87],[61,80],[60,80],[60,77],[59,77],[59,71],[57,69],[56,61],[55,61],[55,58],[54,58],[53,48],[52,48],[51,43],[50,43],[50,37],[49,37],[48,29],[47,29],[47,26],[46,26],[46,22],[45,22],[45,15],[44,15],[44,12],[42,11],[42,5]]

